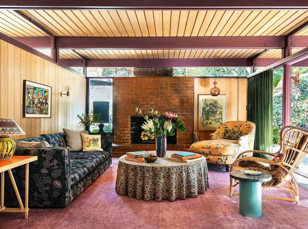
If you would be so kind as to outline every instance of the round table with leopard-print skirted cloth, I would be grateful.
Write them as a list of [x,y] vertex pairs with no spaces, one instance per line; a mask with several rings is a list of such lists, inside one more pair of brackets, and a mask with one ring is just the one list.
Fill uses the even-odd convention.
[[[151,151],[155,152],[155,151]],[[167,157],[179,151],[167,151]],[[145,201],[185,199],[203,194],[209,187],[206,160],[190,163],[159,157],[154,163],[119,159],[115,191]]]

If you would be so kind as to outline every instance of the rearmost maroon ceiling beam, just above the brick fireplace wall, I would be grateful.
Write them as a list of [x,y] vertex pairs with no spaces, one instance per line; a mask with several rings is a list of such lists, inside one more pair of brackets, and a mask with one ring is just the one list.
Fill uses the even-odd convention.
[[[67,66],[81,67],[81,59],[60,59]],[[87,67],[250,67],[250,58],[204,59],[87,59]]]

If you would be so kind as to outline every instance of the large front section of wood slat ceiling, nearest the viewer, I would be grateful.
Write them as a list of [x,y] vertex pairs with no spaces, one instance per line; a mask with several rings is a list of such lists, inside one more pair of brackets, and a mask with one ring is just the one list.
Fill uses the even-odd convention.
[[[55,36],[273,36],[308,21],[305,10],[22,10]],[[44,36],[12,10],[0,11],[0,31]]]

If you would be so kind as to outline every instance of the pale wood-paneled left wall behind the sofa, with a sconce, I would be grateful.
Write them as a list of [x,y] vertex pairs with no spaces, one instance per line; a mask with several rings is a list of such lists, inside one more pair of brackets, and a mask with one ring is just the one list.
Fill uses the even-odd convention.
[[[52,87],[51,118],[23,118],[23,80]],[[62,128],[83,130],[77,114],[85,112],[86,79],[63,67],[0,40],[0,117],[14,118],[26,135],[12,139],[56,133]],[[70,96],[61,97],[70,85]]]

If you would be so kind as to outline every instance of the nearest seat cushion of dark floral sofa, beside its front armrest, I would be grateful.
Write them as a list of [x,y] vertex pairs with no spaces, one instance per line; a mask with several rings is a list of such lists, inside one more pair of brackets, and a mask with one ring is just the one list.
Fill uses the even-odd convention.
[[71,159],[71,185],[76,184],[99,165],[97,160]]

